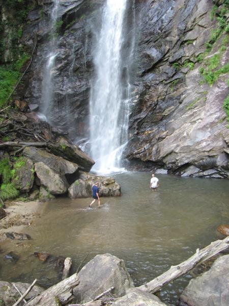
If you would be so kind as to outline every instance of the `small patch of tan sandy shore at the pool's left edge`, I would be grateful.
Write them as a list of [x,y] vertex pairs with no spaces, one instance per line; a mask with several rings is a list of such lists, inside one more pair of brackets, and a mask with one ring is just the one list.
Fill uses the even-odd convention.
[[23,233],[23,228],[32,225],[40,217],[42,203],[39,201],[11,202],[5,209],[7,216],[0,220],[0,241],[6,238],[6,232]]

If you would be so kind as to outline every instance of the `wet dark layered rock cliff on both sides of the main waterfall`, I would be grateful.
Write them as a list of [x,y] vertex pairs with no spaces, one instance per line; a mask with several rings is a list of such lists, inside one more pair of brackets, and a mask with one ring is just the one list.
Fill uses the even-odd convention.
[[[93,47],[104,1],[60,1],[53,34],[53,2],[39,0],[23,30],[22,42],[27,48],[32,49],[35,33],[38,39],[23,98],[31,109],[41,104],[42,75],[52,32],[57,37],[58,55],[52,70],[50,120],[78,143],[87,140],[89,134]],[[228,178],[229,136],[223,110],[228,94],[228,11],[223,1],[215,3],[212,10],[210,0],[135,0],[133,99],[124,152],[131,169],[163,168],[182,176]],[[132,5],[129,2],[129,7]],[[133,12],[129,12],[124,56],[132,33]]]

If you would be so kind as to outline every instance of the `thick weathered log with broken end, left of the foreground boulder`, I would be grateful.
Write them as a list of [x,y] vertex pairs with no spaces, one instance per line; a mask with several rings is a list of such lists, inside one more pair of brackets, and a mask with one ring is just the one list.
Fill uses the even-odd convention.
[[72,290],[79,284],[78,274],[73,274],[64,281],[48,288],[33,300],[28,302],[27,306],[56,306],[57,301],[66,304],[72,296]]

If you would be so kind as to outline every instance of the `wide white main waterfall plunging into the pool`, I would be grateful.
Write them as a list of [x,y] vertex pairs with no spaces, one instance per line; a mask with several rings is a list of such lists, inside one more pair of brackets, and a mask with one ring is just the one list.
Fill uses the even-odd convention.
[[94,63],[90,98],[90,143],[94,169],[107,173],[119,168],[127,137],[128,103],[123,96],[122,44],[127,0],[107,0]]

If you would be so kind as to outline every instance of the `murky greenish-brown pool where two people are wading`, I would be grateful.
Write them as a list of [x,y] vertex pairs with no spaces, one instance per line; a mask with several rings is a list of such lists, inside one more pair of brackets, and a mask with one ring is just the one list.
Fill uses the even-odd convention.
[[[96,254],[111,253],[125,261],[138,286],[217,240],[217,226],[228,223],[228,181],[156,176],[160,185],[153,192],[150,172],[116,174],[123,194],[101,198],[101,209],[90,210],[90,198],[61,197],[41,203],[41,218],[23,230],[32,240],[2,243],[1,279],[32,282],[38,278],[45,287],[60,281],[53,262],[40,262],[34,251],[71,257],[72,273],[85,255],[83,265]],[[20,256],[17,263],[4,260],[9,251]],[[164,287],[161,299],[177,305],[190,278],[187,274]]]

